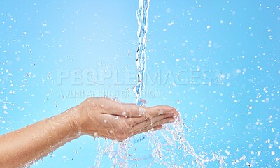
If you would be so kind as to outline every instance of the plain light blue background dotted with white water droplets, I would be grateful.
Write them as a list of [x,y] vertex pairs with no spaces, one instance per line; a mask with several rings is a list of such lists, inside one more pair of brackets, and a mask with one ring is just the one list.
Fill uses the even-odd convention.
[[[137,8],[136,0],[0,1],[0,134],[64,112],[87,96],[135,102]],[[278,167],[279,24],[276,0],[151,0],[147,106],[176,107],[196,153],[223,156],[223,167]],[[169,154],[155,162],[148,158],[151,137],[138,137],[144,140],[132,142],[137,150],[130,153],[147,158],[129,167],[163,167]],[[31,167],[94,167],[98,145],[105,143],[80,137]],[[112,165],[104,155],[101,167]]]

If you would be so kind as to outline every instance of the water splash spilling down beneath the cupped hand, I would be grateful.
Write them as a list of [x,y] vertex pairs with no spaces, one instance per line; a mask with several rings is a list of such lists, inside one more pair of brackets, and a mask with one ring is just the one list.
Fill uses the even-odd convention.
[[[95,167],[102,165],[102,155],[112,162],[111,167],[207,167],[212,162],[216,167],[224,167],[225,157],[221,153],[197,153],[186,139],[186,129],[182,119],[165,125],[161,131],[149,131],[142,135],[130,137],[123,142],[112,141],[111,144],[99,144],[99,155]],[[146,150],[143,153],[143,146]],[[142,153],[141,153],[142,152]],[[106,159],[105,159],[106,160]],[[104,162],[104,164],[106,164]]]

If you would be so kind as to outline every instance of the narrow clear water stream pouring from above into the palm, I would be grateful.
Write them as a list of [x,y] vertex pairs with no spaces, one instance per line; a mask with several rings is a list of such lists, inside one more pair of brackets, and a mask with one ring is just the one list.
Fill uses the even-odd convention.
[[139,8],[136,12],[138,20],[138,32],[139,46],[136,52],[136,63],[138,70],[138,83],[134,86],[133,91],[137,95],[137,105],[145,105],[146,100],[141,98],[141,92],[143,91],[144,84],[144,72],[146,68],[146,33],[148,31],[148,8],[150,0],[139,0]]

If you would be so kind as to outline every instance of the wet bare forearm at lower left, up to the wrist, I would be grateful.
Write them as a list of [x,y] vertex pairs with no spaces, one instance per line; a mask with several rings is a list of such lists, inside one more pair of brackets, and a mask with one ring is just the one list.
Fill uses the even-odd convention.
[[0,137],[0,167],[24,167],[78,135],[74,109]]

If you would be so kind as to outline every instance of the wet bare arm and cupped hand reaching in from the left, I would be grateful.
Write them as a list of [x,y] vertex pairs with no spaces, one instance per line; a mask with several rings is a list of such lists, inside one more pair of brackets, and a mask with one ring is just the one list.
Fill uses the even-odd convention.
[[25,167],[82,135],[122,141],[160,130],[179,112],[161,105],[139,107],[109,98],[87,98],[80,105],[0,137],[0,167]]

